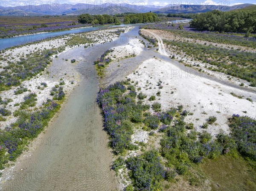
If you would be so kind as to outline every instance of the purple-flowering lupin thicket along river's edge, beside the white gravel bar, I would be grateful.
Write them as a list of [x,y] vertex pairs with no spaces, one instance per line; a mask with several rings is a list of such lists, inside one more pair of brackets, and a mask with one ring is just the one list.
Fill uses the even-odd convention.
[[111,147],[116,154],[125,149],[137,149],[131,144],[133,128],[131,120],[141,121],[143,105],[136,104],[131,95],[124,94],[125,82],[116,82],[100,89],[97,102],[105,114],[105,128],[111,136]]

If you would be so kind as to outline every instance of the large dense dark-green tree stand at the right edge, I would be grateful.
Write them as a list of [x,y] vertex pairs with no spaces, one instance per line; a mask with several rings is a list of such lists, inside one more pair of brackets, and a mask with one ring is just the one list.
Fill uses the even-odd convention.
[[256,11],[239,10],[222,12],[218,10],[196,14],[190,27],[200,31],[256,33]]

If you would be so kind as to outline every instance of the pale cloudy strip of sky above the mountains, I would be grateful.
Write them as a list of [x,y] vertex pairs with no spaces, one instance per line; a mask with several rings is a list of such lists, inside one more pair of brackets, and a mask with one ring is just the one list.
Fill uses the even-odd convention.
[[[10,3],[11,2],[11,3]],[[0,0],[0,5],[3,6],[3,3],[9,3],[10,6],[23,6],[24,4],[34,4],[34,3],[69,3],[69,4],[76,4],[76,3],[87,3],[87,2],[95,2],[96,4],[100,4],[100,2],[111,2],[115,3],[134,3],[142,5],[143,3],[146,5],[155,5],[155,6],[166,6],[168,4],[189,4],[189,5],[226,5],[226,6],[233,6],[243,3],[251,3],[256,4],[256,0]]]

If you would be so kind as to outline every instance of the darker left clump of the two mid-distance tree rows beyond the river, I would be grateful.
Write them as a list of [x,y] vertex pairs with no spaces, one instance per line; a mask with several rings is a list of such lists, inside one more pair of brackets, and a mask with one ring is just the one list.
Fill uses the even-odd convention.
[[82,24],[92,24],[92,25],[103,25],[109,23],[115,23],[115,25],[121,25],[121,21],[116,16],[108,14],[80,14],[78,16],[78,22]]

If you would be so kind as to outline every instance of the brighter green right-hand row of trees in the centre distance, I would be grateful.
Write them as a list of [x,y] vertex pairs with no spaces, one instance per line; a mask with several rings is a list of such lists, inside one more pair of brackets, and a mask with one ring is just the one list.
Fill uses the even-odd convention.
[[158,17],[155,13],[137,13],[125,15],[125,24],[136,24],[136,23],[152,23],[157,22]]

